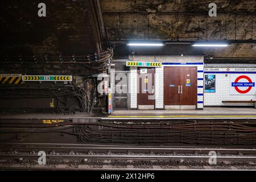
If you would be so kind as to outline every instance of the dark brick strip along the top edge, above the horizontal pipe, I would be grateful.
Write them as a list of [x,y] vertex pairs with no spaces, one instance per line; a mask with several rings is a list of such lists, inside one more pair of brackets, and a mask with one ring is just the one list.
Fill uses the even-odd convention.
[[216,3],[219,13],[256,13],[255,0],[101,0],[104,12],[207,13]]

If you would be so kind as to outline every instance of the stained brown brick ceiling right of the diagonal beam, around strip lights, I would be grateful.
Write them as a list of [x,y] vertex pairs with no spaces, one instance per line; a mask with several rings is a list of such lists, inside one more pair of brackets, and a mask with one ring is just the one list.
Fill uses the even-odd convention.
[[[216,3],[217,17],[209,17],[209,3]],[[203,54],[206,57],[256,60],[255,1],[122,1],[101,0],[106,35],[110,41],[127,40],[233,40],[251,42],[228,48],[166,46],[157,54]],[[130,49],[130,52],[155,53]],[[122,51],[121,51],[122,52]],[[129,52],[129,51],[128,51]],[[121,54],[121,53],[120,53]]]

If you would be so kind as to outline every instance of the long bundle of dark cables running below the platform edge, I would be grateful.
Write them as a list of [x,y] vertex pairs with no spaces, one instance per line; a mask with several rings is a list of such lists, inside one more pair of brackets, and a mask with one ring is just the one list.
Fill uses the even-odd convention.
[[[223,125],[222,125],[223,124]],[[228,125],[226,125],[228,124]],[[196,126],[174,124],[106,124],[75,126],[73,133],[83,143],[189,143],[255,144],[256,127],[234,123],[200,122]],[[189,126],[189,127],[188,127]],[[229,127],[226,127],[229,126]],[[212,128],[214,128],[212,130]],[[237,130],[238,129],[238,130]]]

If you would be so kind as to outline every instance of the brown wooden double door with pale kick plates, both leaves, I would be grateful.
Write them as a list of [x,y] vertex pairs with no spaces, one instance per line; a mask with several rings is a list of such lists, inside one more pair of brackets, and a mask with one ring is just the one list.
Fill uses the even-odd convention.
[[191,110],[197,104],[197,67],[164,67],[164,109]]

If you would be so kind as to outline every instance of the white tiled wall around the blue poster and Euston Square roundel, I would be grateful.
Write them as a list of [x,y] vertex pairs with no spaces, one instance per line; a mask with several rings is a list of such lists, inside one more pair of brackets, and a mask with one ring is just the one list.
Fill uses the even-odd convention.
[[[211,74],[211,73],[205,73]],[[232,103],[223,104],[222,101],[247,101],[256,100],[254,95],[230,95],[230,75],[226,73],[213,73],[216,75],[216,92],[215,93],[204,93],[204,105],[205,106],[225,106],[225,105],[253,105],[253,104],[242,104]]]

